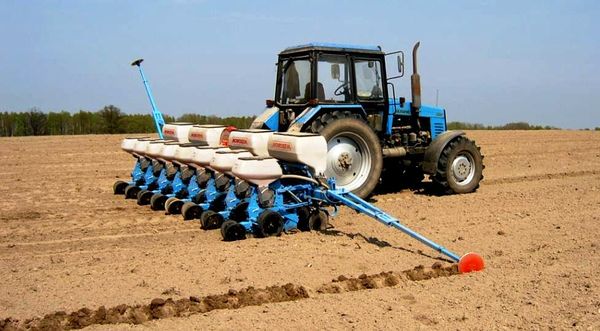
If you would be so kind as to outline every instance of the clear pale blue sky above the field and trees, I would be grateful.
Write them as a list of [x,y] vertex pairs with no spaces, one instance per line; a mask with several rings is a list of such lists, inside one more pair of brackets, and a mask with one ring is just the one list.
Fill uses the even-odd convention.
[[423,102],[439,90],[449,120],[594,127],[598,17],[599,1],[566,0],[0,0],[0,110],[148,112],[129,66],[143,57],[164,113],[255,115],[287,46],[420,40]]

